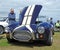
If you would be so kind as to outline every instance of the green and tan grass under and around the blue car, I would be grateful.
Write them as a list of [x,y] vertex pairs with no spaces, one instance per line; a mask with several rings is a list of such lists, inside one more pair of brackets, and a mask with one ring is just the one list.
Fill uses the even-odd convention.
[[55,32],[54,42],[52,46],[25,46],[25,45],[13,45],[7,42],[6,38],[0,39],[0,50],[60,50],[60,32]]

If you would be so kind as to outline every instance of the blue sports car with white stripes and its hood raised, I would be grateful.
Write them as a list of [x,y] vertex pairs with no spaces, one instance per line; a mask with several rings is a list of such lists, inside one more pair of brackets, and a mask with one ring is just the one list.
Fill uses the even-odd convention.
[[[21,13],[22,21],[20,25],[18,27],[15,25],[8,26],[6,33],[7,40],[9,42],[13,40],[21,42],[41,40],[45,41],[47,45],[52,45],[53,34],[51,24],[47,22],[36,22],[41,8],[41,5],[25,7]],[[14,26],[15,28],[13,29]]]

